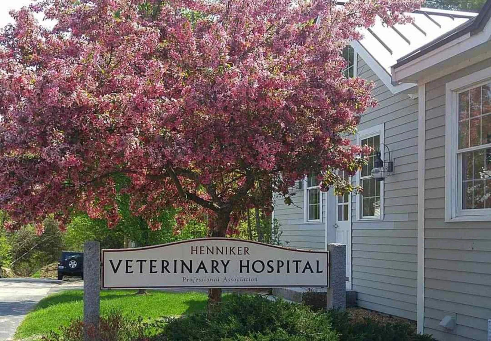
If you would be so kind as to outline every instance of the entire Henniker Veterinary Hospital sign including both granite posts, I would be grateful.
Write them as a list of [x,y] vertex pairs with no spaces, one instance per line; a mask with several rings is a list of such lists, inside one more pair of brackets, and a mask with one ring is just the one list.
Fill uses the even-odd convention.
[[[200,238],[132,249],[84,244],[84,341],[99,326],[100,289],[325,288],[327,309],[346,308],[346,245],[327,251],[233,238]],[[102,276],[102,278],[101,278]]]

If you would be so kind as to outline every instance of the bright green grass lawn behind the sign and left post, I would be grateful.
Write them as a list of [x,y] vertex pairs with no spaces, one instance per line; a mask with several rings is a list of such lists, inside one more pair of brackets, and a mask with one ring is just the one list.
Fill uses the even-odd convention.
[[[119,311],[127,316],[160,317],[201,312],[206,307],[205,293],[148,291],[136,295],[135,290],[101,291],[101,315]],[[82,318],[82,290],[67,290],[42,299],[15,332],[15,339],[42,336],[72,319]]]

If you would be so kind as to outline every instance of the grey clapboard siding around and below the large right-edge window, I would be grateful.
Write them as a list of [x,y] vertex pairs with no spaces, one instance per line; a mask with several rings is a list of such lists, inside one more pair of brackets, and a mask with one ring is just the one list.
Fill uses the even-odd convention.
[[[444,221],[445,84],[491,66],[491,60],[426,84],[425,320],[438,340],[487,340],[491,318],[491,222]],[[447,331],[438,323],[456,314]]]

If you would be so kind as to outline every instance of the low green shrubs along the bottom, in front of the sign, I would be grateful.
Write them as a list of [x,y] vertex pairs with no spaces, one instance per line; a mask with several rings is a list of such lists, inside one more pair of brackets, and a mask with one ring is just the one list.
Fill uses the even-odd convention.
[[[155,319],[144,324],[145,330],[140,329],[139,319],[122,330],[138,331],[138,336],[150,336],[152,341],[434,341],[405,323],[380,324],[368,318],[354,322],[347,312],[313,312],[307,306],[260,296],[232,294],[227,298],[221,311],[211,316],[198,313]],[[111,318],[124,320],[117,315]],[[80,328],[80,322],[72,322],[70,328]],[[67,337],[70,328],[53,333],[57,338],[48,340],[78,341]]]

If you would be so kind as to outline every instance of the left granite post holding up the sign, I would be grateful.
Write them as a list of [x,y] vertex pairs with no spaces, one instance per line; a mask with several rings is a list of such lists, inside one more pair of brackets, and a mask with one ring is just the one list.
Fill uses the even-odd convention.
[[98,241],[83,244],[83,341],[94,340],[99,329],[101,246]]

